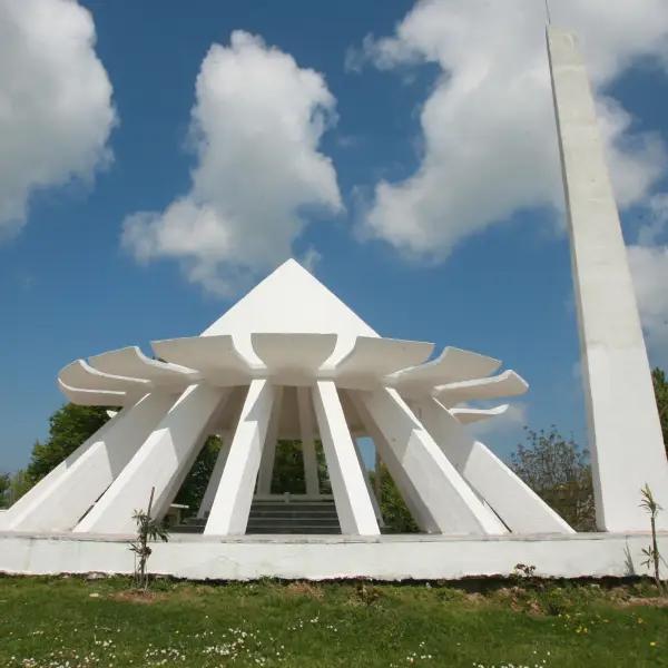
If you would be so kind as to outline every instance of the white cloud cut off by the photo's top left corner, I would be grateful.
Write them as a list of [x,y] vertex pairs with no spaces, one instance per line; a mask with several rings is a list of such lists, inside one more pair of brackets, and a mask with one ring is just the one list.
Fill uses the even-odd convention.
[[88,10],[70,0],[0,0],[0,236],[30,194],[89,181],[110,159],[111,85]]

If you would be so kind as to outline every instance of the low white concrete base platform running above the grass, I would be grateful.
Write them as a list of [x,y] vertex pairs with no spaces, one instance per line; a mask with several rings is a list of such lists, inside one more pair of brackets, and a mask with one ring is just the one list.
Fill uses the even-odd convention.
[[[131,536],[0,532],[0,572],[131,573]],[[517,563],[550,578],[648,574],[649,533],[573,536],[171,536],[157,543],[153,573],[191,580],[257,578],[454,580],[505,577]],[[659,537],[668,553],[668,532]],[[664,572],[668,577],[668,569]]]

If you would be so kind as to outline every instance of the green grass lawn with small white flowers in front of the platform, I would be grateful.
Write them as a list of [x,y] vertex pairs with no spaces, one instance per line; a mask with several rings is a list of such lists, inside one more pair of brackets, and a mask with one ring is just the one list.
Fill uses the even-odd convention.
[[1,666],[668,666],[648,583],[0,578]]

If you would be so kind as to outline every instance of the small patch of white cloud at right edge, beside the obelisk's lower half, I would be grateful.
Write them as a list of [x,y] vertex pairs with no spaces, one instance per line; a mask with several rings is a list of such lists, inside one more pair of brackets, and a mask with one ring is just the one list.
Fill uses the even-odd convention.
[[668,369],[668,246],[628,250],[650,362]]

